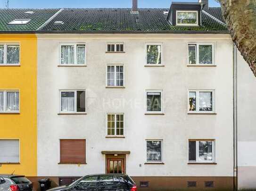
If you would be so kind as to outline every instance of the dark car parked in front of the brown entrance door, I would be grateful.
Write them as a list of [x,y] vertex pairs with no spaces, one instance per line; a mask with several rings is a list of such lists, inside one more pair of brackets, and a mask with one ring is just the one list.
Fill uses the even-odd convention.
[[74,183],[48,191],[137,191],[128,175],[104,174],[83,176]]

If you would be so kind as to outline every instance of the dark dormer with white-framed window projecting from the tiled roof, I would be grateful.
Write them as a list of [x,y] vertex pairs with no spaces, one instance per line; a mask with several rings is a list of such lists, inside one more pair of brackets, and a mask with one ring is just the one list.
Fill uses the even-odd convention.
[[172,2],[167,19],[173,26],[201,26],[204,5],[203,3]]

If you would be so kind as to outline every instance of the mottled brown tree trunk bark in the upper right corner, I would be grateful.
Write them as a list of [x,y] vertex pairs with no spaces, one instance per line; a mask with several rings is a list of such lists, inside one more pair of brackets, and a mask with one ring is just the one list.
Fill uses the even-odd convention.
[[231,38],[256,76],[256,0],[218,0]]

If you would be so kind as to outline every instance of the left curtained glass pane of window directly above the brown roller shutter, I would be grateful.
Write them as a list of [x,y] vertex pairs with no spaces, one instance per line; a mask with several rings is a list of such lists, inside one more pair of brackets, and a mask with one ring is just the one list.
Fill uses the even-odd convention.
[[74,92],[61,92],[61,111],[74,111]]

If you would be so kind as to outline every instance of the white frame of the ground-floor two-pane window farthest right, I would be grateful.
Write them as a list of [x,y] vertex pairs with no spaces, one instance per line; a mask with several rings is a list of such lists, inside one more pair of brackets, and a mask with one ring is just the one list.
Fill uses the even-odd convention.
[[[190,141],[196,141],[196,161],[189,160]],[[212,158],[213,160],[199,160],[199,141],[212,141]],[[215,139],[189,139],[188,141],[188,163],[215,163],[216,162],[216,140]]]

